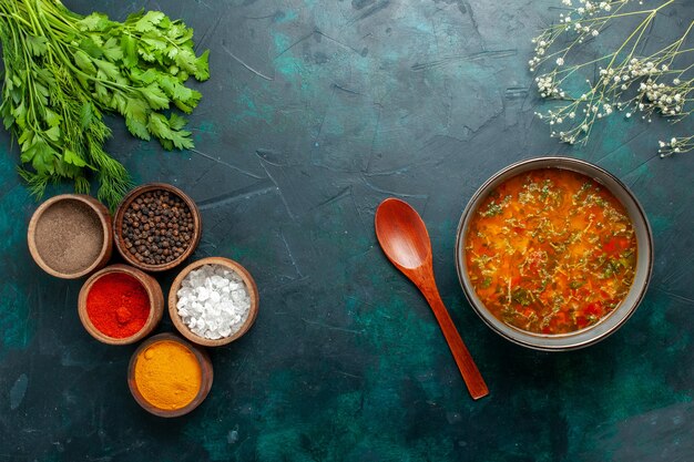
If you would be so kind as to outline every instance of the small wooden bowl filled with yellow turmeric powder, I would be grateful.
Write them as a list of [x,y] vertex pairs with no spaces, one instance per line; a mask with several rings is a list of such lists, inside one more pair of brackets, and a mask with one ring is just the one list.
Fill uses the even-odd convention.
[[205,350],[173,333],[142,342],[127,369],[127,386],[147,412],[173,418],[197,408],[212,388],[212,361]]

